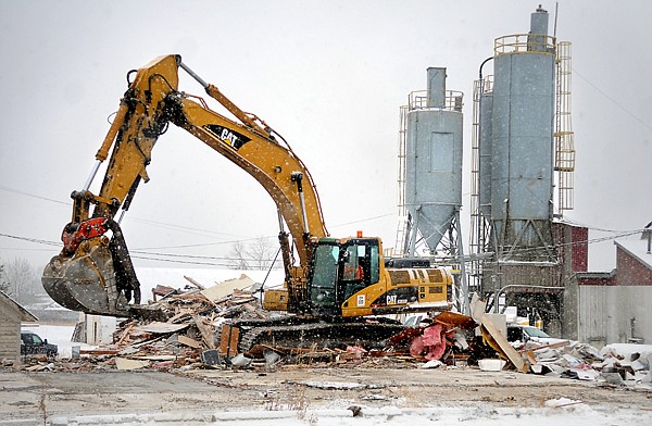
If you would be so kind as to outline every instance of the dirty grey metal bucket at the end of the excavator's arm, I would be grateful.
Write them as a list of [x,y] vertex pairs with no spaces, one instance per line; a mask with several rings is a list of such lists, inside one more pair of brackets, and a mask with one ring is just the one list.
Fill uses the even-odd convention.
[[43,288],[59,304],[88,314],[129,317],[127,300],[117,290],[111,251],[106,245],[52,258],[41,277]]

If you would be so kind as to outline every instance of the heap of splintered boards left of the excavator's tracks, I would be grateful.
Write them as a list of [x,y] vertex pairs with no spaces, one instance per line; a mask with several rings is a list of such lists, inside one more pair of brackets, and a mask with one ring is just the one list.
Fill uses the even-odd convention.
[[218,356],[212,358],[206,351],[220,347],[222,325],[227,320],[261,320],[269,315],[260,308],[251,290],[254,283],[246,275],[210,288],[186,278],[196,289],[180,292],[159,286],[153,290],[154,300],[156,296],[161,299],[148,308],[163,313],[166,321],[128,320],[120,324],[113,334],[117,368],[215,365],[213,360]]

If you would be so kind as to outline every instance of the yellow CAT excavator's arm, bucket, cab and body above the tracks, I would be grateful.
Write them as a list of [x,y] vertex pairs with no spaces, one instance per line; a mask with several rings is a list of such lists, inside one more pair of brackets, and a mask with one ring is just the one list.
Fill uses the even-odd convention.
[[[179,91],[179,68],[237,121],[212,111],[202,98]],[[314,328],[336,324],[341,334],[355,324],[384,324],[365,317],[450,306],[452,277],[446,268],[387,267],[379,238],[329,236],[312,176],[287,141],[205,83],[180,55],[160,57],[130,71],[127,80],[91,174],[84,188],[72,193],[63,249],[43,271],[42,285],[59,304],[117,317],[151,314],[147,304],[140,304],[140,285],[116,215],[121,208],[123,214],[129,208],[140,181],[148,181],[151,152],[172,123],[248,172],[275,201],[285,283],[283,289],[265,291],[263,305],[293,314],[288,316],[291,321],[283,321],[279,333],[291,333],[288,327],[305,329],[305,324]],[[93,195],[90,185],[108,159],[101,189]],[[278,324],[243,324],[242,329],[268,336]],[[378,326],[383,327],[391,328]],[[371,331],[365,325],[360,333]]]

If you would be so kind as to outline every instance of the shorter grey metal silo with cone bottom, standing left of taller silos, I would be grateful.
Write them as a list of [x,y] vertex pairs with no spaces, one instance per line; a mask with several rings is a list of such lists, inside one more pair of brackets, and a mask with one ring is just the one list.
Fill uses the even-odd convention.
[[404,202],[410,254],[417,231],[435,253],[462,205],[462,93],[446,90],[442,67],[428,68],[428,89],[410,95]]

